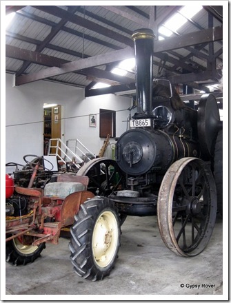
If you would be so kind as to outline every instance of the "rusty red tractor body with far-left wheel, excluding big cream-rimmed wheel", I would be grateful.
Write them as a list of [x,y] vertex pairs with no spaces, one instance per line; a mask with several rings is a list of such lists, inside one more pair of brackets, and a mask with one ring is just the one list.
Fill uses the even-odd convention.
[[61,229],[72,225],[79,205],[94,196],[86,190],[88,180],[61,174],[44,189],[25,188],[14,186],[6,174],[6,261],[27,264],[39,257],[45,242],[58,244]]

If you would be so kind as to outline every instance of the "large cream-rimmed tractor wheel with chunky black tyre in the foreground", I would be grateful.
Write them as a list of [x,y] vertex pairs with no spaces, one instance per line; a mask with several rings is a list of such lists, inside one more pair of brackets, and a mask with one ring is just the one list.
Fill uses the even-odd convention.
[[114,267],[120,246],[117,209],[108,198],[96,196],[81,205],[70,230],[70,259],[82,278],[103,280]]

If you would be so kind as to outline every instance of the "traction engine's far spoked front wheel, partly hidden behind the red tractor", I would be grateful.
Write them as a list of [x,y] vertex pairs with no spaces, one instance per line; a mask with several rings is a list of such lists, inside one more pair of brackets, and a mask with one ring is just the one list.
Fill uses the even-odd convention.
[[109,158],[95,158],[83,165],[78,176],[88,176],[88,190],[97,196],[109,196],[113,191],[123,189],[123,172],[117,163]]

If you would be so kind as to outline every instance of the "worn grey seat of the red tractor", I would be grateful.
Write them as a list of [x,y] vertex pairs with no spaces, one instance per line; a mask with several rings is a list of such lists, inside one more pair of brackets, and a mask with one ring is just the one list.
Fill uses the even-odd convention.
[[66,198],[66,196],[77,192],[84,191],[86,187],[80,182],[51,182],[44,188],[44,196]]

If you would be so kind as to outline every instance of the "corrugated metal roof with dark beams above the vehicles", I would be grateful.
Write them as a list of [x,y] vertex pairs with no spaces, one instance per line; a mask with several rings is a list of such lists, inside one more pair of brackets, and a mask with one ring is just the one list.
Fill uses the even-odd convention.
[[[101,71],[102,79],[106,79],[106,73],[103,73],[103,70],[110,71],[114,64],[120,61],[120,57],[117,58],[117,55],[114,55],[110,64],[104,64],[103,59],[99,60],[99,55],[111,54],[113,56],[117,54],[117,50],[132,47],[131,34],[134,30],[143,28],[143,25],[148,23],[155,25],[155,20],[150,19],[150,12],[154,12],[154,16],[152,14],[151,16],[157,18],[161,26],[179,8],[179,6],[25,6],[15,14],[6,30],[6,46],[13,48],[11,50],[6,48],[6,72],[17,73],[17,79],[19,79],[23,74],[30,76],[30,73],[48,69],[52,67],[51,64],[59,67],[66,61],[76,62],[82,58],[95,57],[94,68],[97,70],[92,70],[92,65],[89,70],[86,61],[89,76],[94,80],[92,74],[99,75]],[[214,27],[222,26],[221,8],[220,6],[204,7],[192,17],[192,20],[179,28],[174,36],[181,38],[182,45],[185,45],[187,34],[196,32],[199,34],[201,30],[208,30],[209,20]],[[194,39],[196,36],[194,35]],[[185,69],[187,70],[187,66],[188,74],[190,74],[195,64],[199,75],[200,70],[201,72],[207,70],[209,56],[214,60],[212,57],[214,54],[217,54],[217,63],[221,66],[222,39],[212,42],[212,54],[211,48],[208,43],[203,43],[203,39],[204,37],[201,37],[201,45],[197,42],[194,46],[188,42],[190,47],[184,46],[171,50],[166,43],[168,41],[172,43],[174,38],[165,37],[163,52],[168,54],[169,60],[165,62],[164,68],[168,74],[172,76],[181,74],[185,72]],[[157,44],[154,43],[154,52]],[[30,52],[27,53],[28,57],[23,54],[23,50]],[[41,54],[39,61],[36,60],[38,54]],[[49,61],[49,58],[52,61]],[[158,71],[161,58],[161,55],[154,53],[154,73]],[[134,75],[128,74],[128,76],[134,79]],[[99,81],[99,78],[100,75],[96,76],[96,81]],[[87,87],[91,83],[81,71],[79,74],[78,71],[57,74],[50,79],[80,87]],[[117,80],[114,79],[114,82],[118,84]],[[110,79],[110,81],[113,80]],[[123,83],[122,78],[121,83]]]

